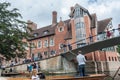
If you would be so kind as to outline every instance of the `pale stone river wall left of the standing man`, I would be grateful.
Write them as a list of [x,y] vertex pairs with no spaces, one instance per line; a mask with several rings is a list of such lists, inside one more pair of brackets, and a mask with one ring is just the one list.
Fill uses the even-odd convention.
[[[32,62],[33,63],[33,62]],[[30,63],[30,64],[32,64]],[[40,66],[40,70],[47,72],[56,72],[56,73],[69,73],[75,72],[76,68],[74,63],[67,61],[61,56],[54,56],[52,58],[44,59],[37,61]],[[15,65],[14,67],[7,67],[7,70],[13,68],[16,72],[25,72],[27,71],[28,64]]]

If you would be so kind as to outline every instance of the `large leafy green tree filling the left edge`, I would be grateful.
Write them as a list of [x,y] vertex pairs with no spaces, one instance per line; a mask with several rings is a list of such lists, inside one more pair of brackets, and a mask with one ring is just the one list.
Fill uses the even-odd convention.
[[10,3],[0,3],[0,54],[11,59],[25,55],[23,38],[27,38],[26,23],[17,8],[9,9]]

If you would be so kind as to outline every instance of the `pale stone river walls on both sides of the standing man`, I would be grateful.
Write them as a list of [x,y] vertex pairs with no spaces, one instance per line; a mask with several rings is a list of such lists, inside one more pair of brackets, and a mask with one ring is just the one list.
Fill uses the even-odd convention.
[[[54,56],[52,58],[37,61],[40,65],[40,70],[47,71],[51,73],[71,73],[77,71],[77,63],[70,62],[62,56]],[[28,64],[16,65],[13,70],[17,72],[27,71]],[[120,62],[105,62],[105,61],[87,61],[86,62],[86,72],[87,73],[97,73],[97,72],[107,72],[116,71],[120,67]],[[8,70],[10,67],[7,68]]]

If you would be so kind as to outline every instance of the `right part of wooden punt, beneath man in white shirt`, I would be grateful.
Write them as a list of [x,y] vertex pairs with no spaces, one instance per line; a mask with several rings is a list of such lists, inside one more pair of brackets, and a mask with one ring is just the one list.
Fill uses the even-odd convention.
[[104,80],[105,74],[94,74],[85,77],[74,77],[74,76],[49,76],[46,80]]

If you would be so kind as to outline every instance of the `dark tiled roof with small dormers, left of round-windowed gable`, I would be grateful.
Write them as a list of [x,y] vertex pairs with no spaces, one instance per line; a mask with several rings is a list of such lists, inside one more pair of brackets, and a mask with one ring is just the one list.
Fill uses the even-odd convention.
[[[70,21],[70,19],[65,20],[64,23],[68,24]],[[48,25],[39,29],[34,30],[31,34],[37,34],[36,37],[33,37],[29,40],[34,40],[34,39],[38,39],[38,38],[42,38],[42,37],[46,37],[46,36],[51,36],[51,35],[55,35],[55,28],[58,26],[58,23],[56,25]],[[47,32],[46,34],[44,32]],[[69,36],[65,37],[65,38],[69,38]]]

